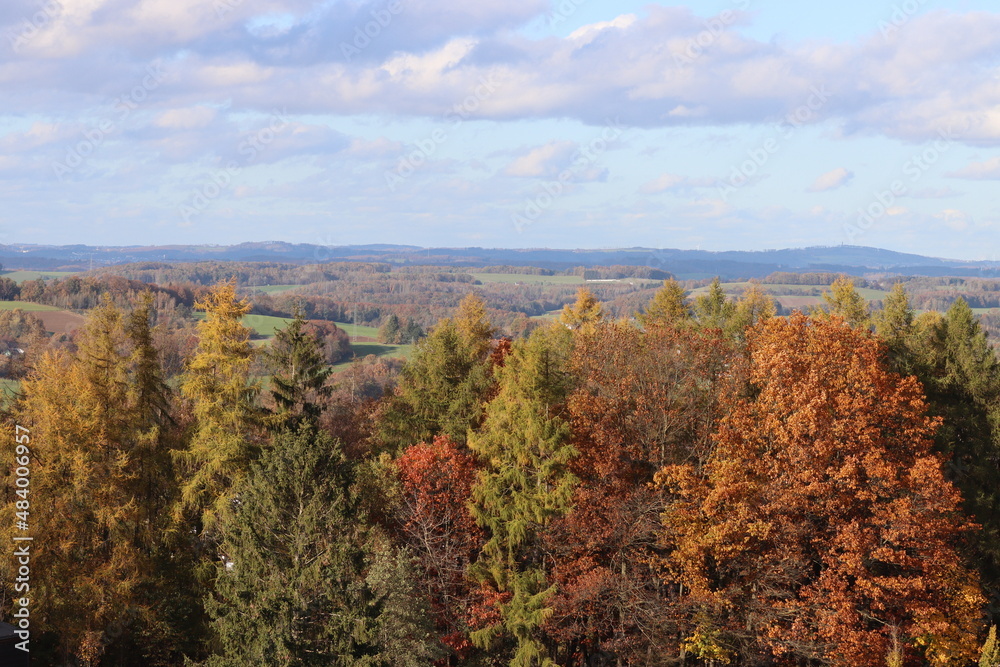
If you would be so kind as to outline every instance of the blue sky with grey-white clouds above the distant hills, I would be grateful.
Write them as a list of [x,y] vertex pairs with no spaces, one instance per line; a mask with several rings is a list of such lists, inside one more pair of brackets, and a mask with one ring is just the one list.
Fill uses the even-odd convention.
[[4,0],[0,243],[1000,254],[993,0]]

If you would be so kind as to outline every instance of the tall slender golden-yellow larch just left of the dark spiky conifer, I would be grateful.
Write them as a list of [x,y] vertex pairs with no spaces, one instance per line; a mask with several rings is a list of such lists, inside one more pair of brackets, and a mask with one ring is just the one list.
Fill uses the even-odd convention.
[[195,306],[207,316],[198,323],[198,349],[181,378],[196,424],[188,448],[176,452],[184,476],[179,509],[194,511],[210,530],[255,456],[251,427],[259,387],[250,381],[254,348],[242,324],[250,304],[237,299],[235,281],[216,286]]

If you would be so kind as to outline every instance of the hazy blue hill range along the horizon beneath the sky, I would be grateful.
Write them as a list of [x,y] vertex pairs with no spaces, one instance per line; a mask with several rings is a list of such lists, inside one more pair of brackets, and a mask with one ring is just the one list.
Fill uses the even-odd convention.
[[925,257],[864,246],[821,246],[780,250],[677,250],[613,248],[420,248],[370,244],[320,246],[266,241],[238,245],[86,246],[0,245],[0,264],[8,269],[87,270],[130,262],[192,262],[201,260],[290,262],[386,262],[397,266],[536,266],[564,270],[592,266],[652,266],[679,278],[720,276],[725,280],[763,277],[775,271],[820,271],[868,275],[1000,277],[1000,262],[976,262]]

